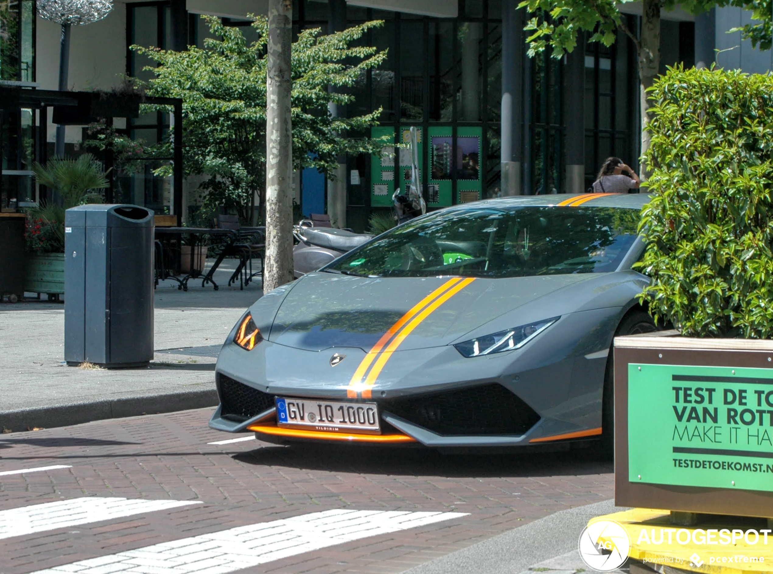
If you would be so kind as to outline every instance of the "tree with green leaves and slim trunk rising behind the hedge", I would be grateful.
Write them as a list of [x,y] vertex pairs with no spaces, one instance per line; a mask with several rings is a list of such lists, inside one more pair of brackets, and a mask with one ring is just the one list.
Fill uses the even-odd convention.
[[742,36],[751,39],[754,46],[768,49],[771,46],[771,9],[773,0],[642,0],[642,29],[637,36],[628,29],[619,10],[620,5],[635,0],[523,0],[518,7],[526,8],[532,18],[525,30],[530,32],[529,55],[552,48],[555,58],[572,52],[583,34],[589,34],[591,42],[611,46],[618,29],[630,38],[638,56],[638,76],[641,83],[640,106],[642,112],[642,153],[649,148],[650,135],[645,129],[651,119],[647,90],[652,87],[660,67],[660,12],[673,10],[678,4],[690,14],[707,12],[714,6],[737,6],[752,11],[753,22],[740,30]]

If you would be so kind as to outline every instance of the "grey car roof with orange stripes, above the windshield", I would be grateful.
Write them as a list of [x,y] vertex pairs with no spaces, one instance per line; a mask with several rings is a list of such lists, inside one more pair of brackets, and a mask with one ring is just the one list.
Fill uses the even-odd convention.
[[529,206],[581,205],[582,207],[616,207],[620,209],[642,209],[649,203],[646,193],[557,193],[550,195],[513,195],[497,199],[454,205],[451,209],[516,209]]

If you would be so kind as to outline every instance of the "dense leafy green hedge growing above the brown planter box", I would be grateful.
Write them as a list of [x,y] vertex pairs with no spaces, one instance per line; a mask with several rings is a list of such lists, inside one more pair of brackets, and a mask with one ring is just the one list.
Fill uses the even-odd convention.
[[773,77],[679,67],[650,97],[642,301],[684,335],[770,338]]

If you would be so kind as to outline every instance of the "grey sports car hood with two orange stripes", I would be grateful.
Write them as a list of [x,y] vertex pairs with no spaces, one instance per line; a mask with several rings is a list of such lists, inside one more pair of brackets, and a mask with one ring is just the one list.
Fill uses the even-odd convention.
[[[556,302],[570,297],[560,297],[561,291],[599,279],[598,273],[475,280],[310,273],[282,301],[268,339],[309,351],[357,347],[367,352],[387,331],[401,328],[407,335],[401,351],[438,347],[525,305],[538,308],[519,324],[562,314],[566,305]],[[416,312],[404,319],[411,311]]]

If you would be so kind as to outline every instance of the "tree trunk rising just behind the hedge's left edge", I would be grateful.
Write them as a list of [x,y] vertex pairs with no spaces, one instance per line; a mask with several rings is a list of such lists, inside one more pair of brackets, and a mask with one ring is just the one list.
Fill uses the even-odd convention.
[[[638,47],[638,77],[642,84],[639,95],[642,113],[642,154],[649,149],[649,99],[647,88],[652,86],[660,68],[660,5],[661,0],[643,0],[642,2],[642,34]],[[639,168],[642,179],[649,175],[649,168],[643,165]]]

